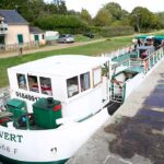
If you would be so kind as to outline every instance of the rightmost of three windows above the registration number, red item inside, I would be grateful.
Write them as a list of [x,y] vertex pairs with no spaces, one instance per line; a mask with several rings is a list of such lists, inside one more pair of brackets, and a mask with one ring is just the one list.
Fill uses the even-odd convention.
[[50,80],[50,78],[40,77],[39,82],[40,82],[42,93],[51,96],[52,95],[52,90],[51,90],[51,80]]

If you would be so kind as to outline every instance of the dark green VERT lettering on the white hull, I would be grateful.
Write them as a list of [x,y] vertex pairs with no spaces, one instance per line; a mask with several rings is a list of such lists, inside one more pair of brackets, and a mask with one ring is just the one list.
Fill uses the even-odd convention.
[[9,132],[4,132],[4,131],[0,131],[0,138],[4,139],[4,140],[9,140],[12,142],[22,142],[23,136],[22,134],[14,134],[14,133],[9,133]]

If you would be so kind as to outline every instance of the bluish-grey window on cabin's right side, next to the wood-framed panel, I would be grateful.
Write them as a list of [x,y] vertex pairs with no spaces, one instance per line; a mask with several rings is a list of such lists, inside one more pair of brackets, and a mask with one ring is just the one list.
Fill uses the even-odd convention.
[[80,75],[81,92],[90,89],[90,72]]

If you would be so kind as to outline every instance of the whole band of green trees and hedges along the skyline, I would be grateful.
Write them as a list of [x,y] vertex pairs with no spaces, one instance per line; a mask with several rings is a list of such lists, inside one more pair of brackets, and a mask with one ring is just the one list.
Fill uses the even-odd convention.
[[0,9],[15,9],[31,25],[60,33],[81,34],[92,30],[99,33],[106,26],[133,26],[138,32],[164,27],[164,12],[153,13],[137,7],[128,13],[116,2],[106,3],[93,19],[85,9],[68,11],[65,0],[0,0]]

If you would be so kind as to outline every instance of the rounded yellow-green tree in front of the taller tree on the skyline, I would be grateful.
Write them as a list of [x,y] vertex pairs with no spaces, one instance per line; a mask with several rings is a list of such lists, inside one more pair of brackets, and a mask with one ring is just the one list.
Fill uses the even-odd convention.
[[96,26],[108,26],[112,24],[112,15],[106,9],[101,9],[94,17],[94,24]]

